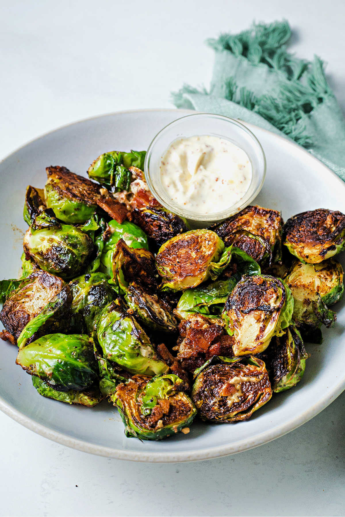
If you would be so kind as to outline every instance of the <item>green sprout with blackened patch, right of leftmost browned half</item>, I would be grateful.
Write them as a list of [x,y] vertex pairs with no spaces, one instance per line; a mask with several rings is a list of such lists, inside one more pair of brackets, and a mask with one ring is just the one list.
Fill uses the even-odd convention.
[[92,333],[97,324],[98,316],[116,297],[107,276],[103,273],[87,273],[75,278],[69,283],[73,296],[72,314],[80,314],[83,318],[87,333]]

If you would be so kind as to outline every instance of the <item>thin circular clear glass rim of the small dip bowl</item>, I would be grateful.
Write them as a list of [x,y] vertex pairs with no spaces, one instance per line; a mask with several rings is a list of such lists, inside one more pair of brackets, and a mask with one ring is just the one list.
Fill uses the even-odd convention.
[[[208,214],[206,218],[204,215],[198,214],[197,212],[189,212],[188,210],[184,211],[183,208],[181,208],[181,210],[180,210],[180,209],[178,209],[178,207],[170,206],[169,202],[167,200],[163,199],[161,197],[161,195],[157,192],[155,185],[154,185],[154,181],[151,178],[151,175],[149,173],[149,161],[151,159],[151,154],[152,154],[155,144],[159,140],[160,136],[167,130],[171,129],[173,126],[177,126],[177,125],[181,125],[181,124],[183,125],[184,121],[186,121],[186,119],[190,120],[190,118],[202,118],[202,119],[216,118],[218,120],[222,120],[222,121],[232,124],[239,131],[245,132],[247,135],[249,135],[251,142],[252,142],[252,149],[254,150],[254,153],[256,155],[260,156],[260,160],[262,161],[262,166],[263,166],[261,179],[260,179],[259,183],[256,184],[256,187],[254,188],[251,195],[248,196],[247,193],[249,192],[249,190],[253,184],[253,179],[254,179],[253,175],[250,180],[250,185],[249,185],[247,191],[245,192],[245,194],[241,197],[241,199],[239,199],[236,203],[234,203],[232,206],[230,206],[226,210],[221,210],[219,212],[213,212],[212,214]],[[205,134],[208,134],[207,131],[205,132]],[[226,139],[227,137],[224,136],[224,138]],[[233,142],[236,143],[235,140]],[[241,146],[239,144],[238,144],[238,147],[241,148]],[[247,126],[242,124],[241,121],[239,121],[238,119],[235,119],[235,118],[227,117],[225,115],[218,115],[216,113],[194,112],[190,115],[185,115],[183,117],[177,118],[176,120],[173,120],[166,126],[162,127],[158,131],[158,133],[154,136],[154,138],[150,142],[149,146],[147,147],[145,162],[144,162],[144,175],[145,175],[146,183],[148,185],[149,190],[153,193],[154,197],[159,201],[159,203],[162,206],[164,206],[164,208],[167,208],[168,210],[172,211],[174,214],[178,215],[179,217],[186,218],[187,220],[197,221],[199,223],[205,222],[206,224],[211,224],[216,221],[218,222],[218,221],[227,219],[228,217],[230,217],[234,214],[237,214],[237,212],[243,210],[246,206],[250,205],[250,203],[253,201],[253,199],[255,199],[257,197],[257,195],[260,193],[260,191],[263,187],[265,177],[266,177],[266,166],[267,166],[267,163],[266,163],[265,151],[263,150],[263,147],[262,147],[260,141],[258,140],[257,136]]]

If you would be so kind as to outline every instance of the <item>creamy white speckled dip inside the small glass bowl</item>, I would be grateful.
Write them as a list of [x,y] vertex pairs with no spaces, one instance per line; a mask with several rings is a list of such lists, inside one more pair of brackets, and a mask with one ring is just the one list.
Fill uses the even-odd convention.
[[159,172],[169,198],[198,214],[220,212],[241,200],[252,175],[243,149],[206,134],[172,142]]

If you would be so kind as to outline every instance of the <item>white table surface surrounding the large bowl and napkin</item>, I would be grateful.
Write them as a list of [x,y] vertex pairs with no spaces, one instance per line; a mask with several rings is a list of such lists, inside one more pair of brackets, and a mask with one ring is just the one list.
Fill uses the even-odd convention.
[[[3,0],[0,158],[74,120],[170,108],[183,82],[208,86],[205,38],[281,18],[298,56],[329,63],[345,111],[342,0]],[[344,515],[344,429],[345,393],[257,449],[152,465],[66,448],[0,414],[0,515]]]

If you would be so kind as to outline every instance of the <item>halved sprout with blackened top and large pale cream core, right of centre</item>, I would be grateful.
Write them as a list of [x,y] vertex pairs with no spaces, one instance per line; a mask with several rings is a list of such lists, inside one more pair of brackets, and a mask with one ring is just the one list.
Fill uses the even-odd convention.
[[226,301],[222,318],[232,336],[235,356],[263,352],[273,336],[290,325],[293,297],[289,287],[269,275],[244,277]]

